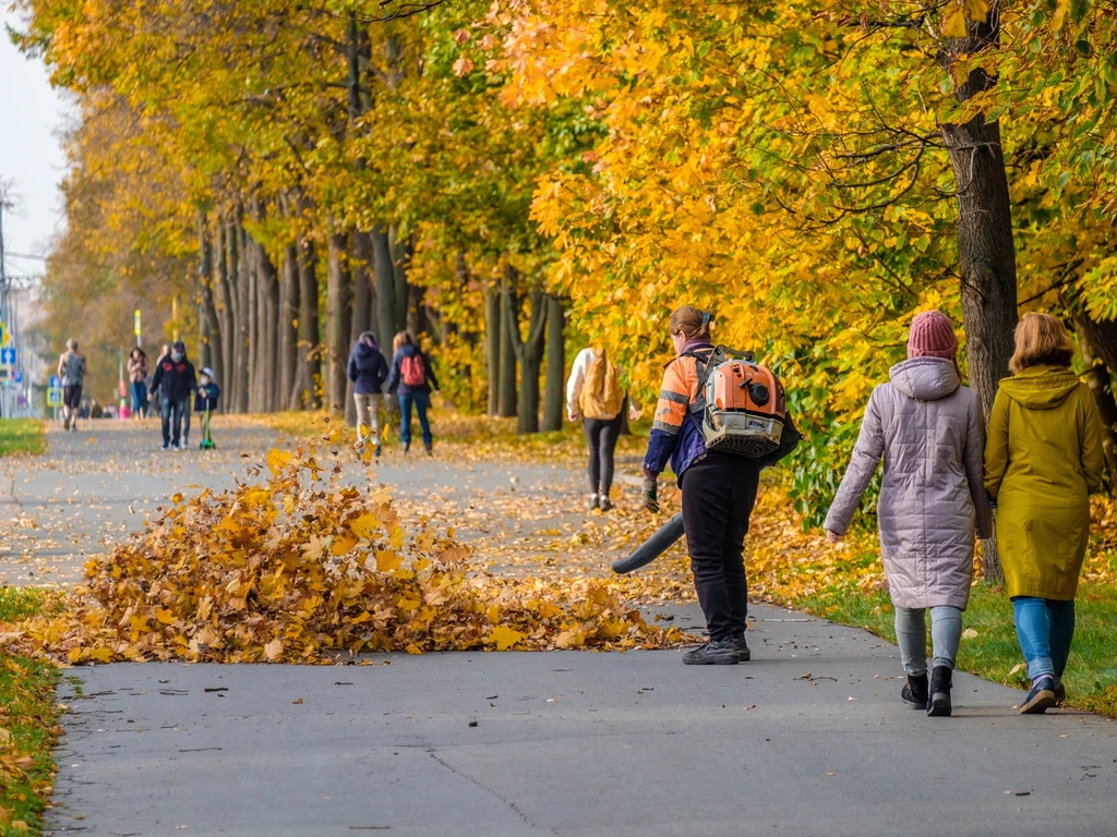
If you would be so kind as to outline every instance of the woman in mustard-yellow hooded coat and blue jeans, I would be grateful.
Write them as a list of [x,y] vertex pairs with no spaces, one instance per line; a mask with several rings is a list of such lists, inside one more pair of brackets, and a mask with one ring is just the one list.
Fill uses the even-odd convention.
[[1066,698],[1089,496],[1101,487],[1105,460],[1094,396],[1070,371],[1067,329],[1027,314],[1015,339],[1013,374],[1001,382],[989,422],[985,488],[997,504],[997,549],[1032,679],[1020,712],[1032,714]]

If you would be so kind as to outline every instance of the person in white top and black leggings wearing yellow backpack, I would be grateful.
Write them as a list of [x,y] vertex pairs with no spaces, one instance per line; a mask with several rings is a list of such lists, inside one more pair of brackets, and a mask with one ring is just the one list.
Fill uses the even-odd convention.
[[[584,348],[574,358],[566,381],[566,415],[572,422],[582,419],[582,430],[590,445],[590,509],[613,508],[613,453],[624,425],[624,388],[621,369],[609,360],[604,349]],[[629,406],[629,420],[639,411]]]

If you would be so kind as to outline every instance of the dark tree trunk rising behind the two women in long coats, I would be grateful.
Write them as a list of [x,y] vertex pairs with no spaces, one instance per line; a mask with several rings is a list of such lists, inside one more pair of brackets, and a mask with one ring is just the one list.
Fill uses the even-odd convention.
[[[966,38],[945,41],[941,66],[949,71],[963,55],[996,49],[1000,13],[994,4],[985,20],[967,22]],[[958,102],[967,102],[994,84],[995,76],[976,67],[954,95]],[[970,385],[989,416],[1000,381],[1009,374],[1016,327],[1016,256],[1001,128],[978,114],[963,125],[944,124],[942,133],[958,199],[958,267]],[[983,567],[987,581],[1004,580],[995,538],[985,545]]]

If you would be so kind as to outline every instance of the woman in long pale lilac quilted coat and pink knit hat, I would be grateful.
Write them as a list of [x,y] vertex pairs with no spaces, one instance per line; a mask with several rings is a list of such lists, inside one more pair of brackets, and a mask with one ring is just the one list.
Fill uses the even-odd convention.
[[[982,484],[985,420],[962,385],[951,320],[924,311],[911,323],[908,359],[872,391],[849,470],[827,514],[830,540],[844,537],[877,464],[880,551],[896,608],[896,641],[907,672],[900,698],[928,715],[949,715],[962,612],[973,584],[974,523],[992,533]],[[934,667],[927,677],[926,612]]]

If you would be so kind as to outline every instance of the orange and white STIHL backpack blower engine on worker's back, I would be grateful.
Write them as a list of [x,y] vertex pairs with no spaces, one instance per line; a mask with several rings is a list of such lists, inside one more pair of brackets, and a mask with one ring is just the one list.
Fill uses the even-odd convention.
[[[780,446],[787,405],[783,384],[750,353],[718,346],[706,366],[701,411],[706,449],[758,459]],[[697,412],[697,411],[696,411]]]

